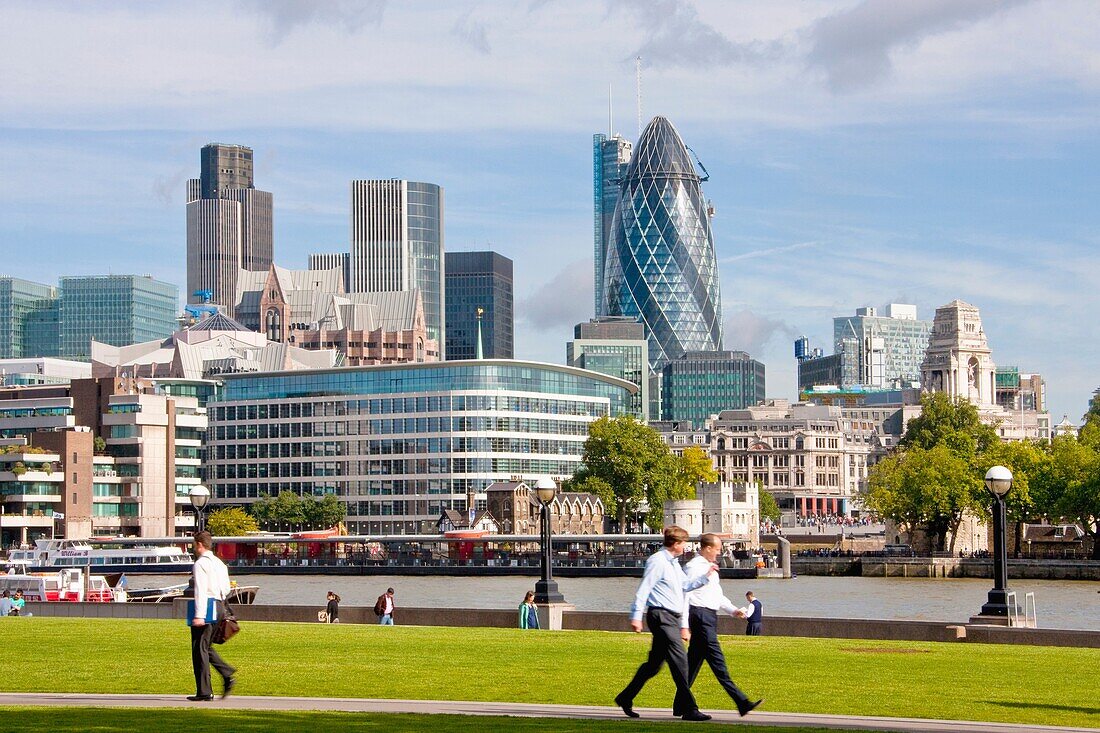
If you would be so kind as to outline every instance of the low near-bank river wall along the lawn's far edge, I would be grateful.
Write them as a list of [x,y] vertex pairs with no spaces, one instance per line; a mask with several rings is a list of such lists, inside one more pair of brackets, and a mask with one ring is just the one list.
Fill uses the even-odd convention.
[[[41,616],[88,619],[164,619],[184,623],[186,601],[173,603],[28,603],[26,611]],[[318,623],[317,605],[238,605],[237,617],[248,628],[249,622]],[[417,609],[398,608],[395,620],[409,626],[488,626],[515,628],[517,612],[510,609]],[[377,623],[369,606],[341,606],[340,622]],[[562,612],[563,630],[618,631],[628,628],[623,613],[603,611]],[[729,616],[718,620],[718,632],[745,633],[745,622]],[[892,642],[976,642],[981,644],[1028,644],[1100,648],[1100,632],[1057,628],[1010,628],[981,624],[945,624],[933,621],[891,621],[868,619],[810,619],[767,616],[765,634],[815,638],[862,638]]]

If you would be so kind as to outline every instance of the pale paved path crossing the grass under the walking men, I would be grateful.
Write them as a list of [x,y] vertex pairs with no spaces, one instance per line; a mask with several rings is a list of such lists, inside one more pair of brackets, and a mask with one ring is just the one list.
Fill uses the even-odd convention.
[[[765,703],[767,704],[767,703]],[[56,692],[3,692],[0,705],[53,705],[87,708],[202,708],[206,710],[323,710],[331,712],[429,713],[450,715],[512,715],[517,718],[572,718],[625,720],[618,708],[595,705],[549,705],[524,702],[461,702],[450,700],[370,700],[358,698],[274,698],[233,696],[213,702],[188,702],[168,694],[63,694]],[[636,708],[642,720],[673,721],[667,709]],[[1094,727],[1020,725],[915,718],[862,715],[818,715],[813,713],[754,712],[740,718],[729,710],[707,710],[716,723],[746,725],[801,725],[853,731],[900,731],[903,733],[1097,733]],[[624,729],[625,730],[625,729]]]

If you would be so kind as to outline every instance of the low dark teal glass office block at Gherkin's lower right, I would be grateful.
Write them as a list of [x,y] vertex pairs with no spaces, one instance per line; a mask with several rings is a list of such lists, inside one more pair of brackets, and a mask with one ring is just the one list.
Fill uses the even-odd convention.
[[744,351],[693,351],[661,370],[661,419],[701,428],[724,409],[765,400],[765,366]]

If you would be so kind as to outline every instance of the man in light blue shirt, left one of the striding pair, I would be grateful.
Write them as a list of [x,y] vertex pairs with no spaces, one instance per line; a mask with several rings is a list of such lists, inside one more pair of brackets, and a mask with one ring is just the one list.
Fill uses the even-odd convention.
[[[680,630],[680,617],[684,611],[684,593],[705,584],[708,575],[689,580],[680,567],[679,558],[684,551],[688,533],[673,525],[664,529],[664,549],[654,553],[646,560],[646,575],[638,586],[638,592],[630,608],[630,627],[635,633],[641,633],[641,617],[646,616],[649,633],[653,635],[653,645],[649,649],[649,658],[635,672],[634,679],[615,698],[615,704],[623,709],[628,718],[638,718],[634,711],[634,699],[641,688],[661,670],[661,665],[669,663],[672,681],[676,686],[679,709],[674,712],[684,720],[704,721],[711,716],[701,712],[691,693],[688,681],[688,655],[681,639],[688,639],[688,631]],[[708,572],[717,572],[717,566],[711,566]]]

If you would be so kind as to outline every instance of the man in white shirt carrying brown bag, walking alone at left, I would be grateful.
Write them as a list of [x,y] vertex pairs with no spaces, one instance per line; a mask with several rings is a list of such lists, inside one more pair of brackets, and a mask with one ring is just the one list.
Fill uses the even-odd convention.
[[213,554],[213,538],[209,532],[195,533],[195,568],[193,583],[195,601],[188,604],[187,624],[191,627],[191,666],[195,668],[195,694],[187,699],[193,702],[213,700],[210,687],[210,665],[221,675],[226,686],[222,698],[229,697],[237,685],[233,669],[211,646],[213,628],[226,613],[226,595],[229,594],[229,568]]

